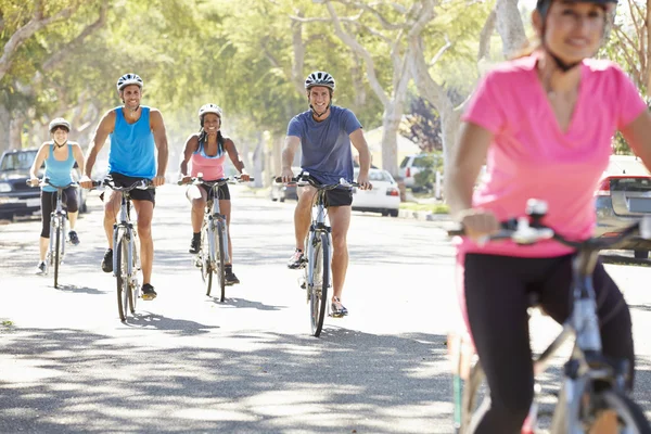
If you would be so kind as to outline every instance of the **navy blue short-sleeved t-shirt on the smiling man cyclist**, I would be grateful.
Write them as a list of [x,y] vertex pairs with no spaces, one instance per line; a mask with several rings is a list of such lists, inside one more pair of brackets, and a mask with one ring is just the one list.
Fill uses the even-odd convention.
[[290,120],[288,136],[301,139],[301,167],[321,183],[353,181],[350,133],[361,128],[348,108],[330,107],[326,120],[316,122],[312,112],[303,112]]

